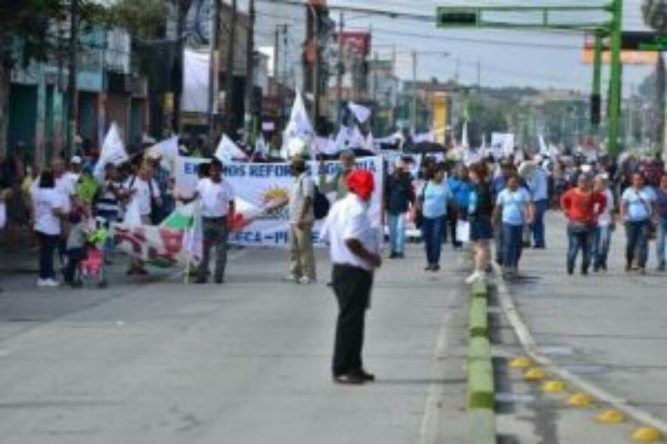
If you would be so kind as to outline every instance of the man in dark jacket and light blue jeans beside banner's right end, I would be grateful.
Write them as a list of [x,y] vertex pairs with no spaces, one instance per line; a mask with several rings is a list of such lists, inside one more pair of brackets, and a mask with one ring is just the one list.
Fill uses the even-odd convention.
[[390,259],[405,257],[405,215],[415,201],[412,178],[406,171],[405,161],[396,159],[394,173],[387,177],[385,208],[389,219]]

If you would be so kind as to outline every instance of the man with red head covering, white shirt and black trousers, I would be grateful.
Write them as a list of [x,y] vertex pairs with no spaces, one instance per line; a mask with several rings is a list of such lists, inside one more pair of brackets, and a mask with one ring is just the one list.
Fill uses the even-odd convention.
[[367,213],[374,191],[373,174],[354,170],[346,180],[348,196],[331,208],[322,229],[330,245],[338,322],[332,372],[338,384],[364,384],[375,376],[364,370],[364,323],[374,270],[382,265],[378,236]]

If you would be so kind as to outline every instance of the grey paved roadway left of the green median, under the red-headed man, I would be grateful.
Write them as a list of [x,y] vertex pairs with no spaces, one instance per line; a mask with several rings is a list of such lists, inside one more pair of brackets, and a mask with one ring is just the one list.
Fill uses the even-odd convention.
[[223,287],[164,272],[137,285],[119,265],[108,290],[4,274],[1,441],[461,443],[461,257],[427,277],[422,256],[378,276],[366,340],[378,382],[362,387],[331,382],[328,270],[317,286],[282,283],[284,252],[233,253]]

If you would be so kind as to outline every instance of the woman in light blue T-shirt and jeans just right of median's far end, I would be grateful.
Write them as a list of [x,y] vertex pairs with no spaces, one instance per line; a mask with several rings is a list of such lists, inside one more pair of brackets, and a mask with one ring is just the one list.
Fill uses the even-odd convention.
[[518,272],[522,250],[524,224],[530,224],[534,216],[534,207],[530,193],[520,187],[519,176],[511,174],[507,187],[498,194],[494,220],[502,220],[503,233],[503,272],[514,276]]

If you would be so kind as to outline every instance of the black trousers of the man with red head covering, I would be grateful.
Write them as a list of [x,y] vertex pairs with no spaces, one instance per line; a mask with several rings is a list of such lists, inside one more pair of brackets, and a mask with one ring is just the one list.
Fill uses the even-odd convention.
[[369,308],[373,274],[350,265],[334,265],[332,278],[338,300],[334,344],[334,376],[363,368],[364,323]]

